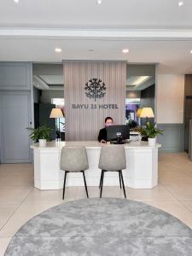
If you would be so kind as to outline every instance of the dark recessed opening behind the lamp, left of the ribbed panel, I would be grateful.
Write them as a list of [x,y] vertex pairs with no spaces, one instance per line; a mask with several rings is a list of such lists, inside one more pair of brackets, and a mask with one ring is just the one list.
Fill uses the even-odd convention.
[[50,119],[52,108],[61,108],[64,113],[64,79],[62,64],[33,63],[32,84],[34,92],[34,124],[46,125],[52,129],[51,139],[65,140],[65,118]]

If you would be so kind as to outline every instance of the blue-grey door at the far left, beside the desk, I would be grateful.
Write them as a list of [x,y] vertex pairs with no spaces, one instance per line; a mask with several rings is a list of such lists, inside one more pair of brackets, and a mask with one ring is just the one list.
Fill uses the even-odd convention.
[[31,92],[0,92],[1,163],[31,162],[30,139],[26,127],[32,124]]

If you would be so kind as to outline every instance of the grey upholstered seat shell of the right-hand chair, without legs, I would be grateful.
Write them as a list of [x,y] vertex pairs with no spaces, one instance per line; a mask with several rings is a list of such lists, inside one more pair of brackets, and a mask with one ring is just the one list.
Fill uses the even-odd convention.
[[122,145],[102,146],[99,168],[106,171],[119,171],[126,168],[125,148]]

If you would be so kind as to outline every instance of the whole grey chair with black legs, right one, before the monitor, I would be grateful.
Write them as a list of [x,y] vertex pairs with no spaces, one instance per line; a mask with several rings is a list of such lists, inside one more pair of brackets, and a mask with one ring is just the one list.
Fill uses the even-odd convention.
[[99,168],[102,169],[101,179],[100,179],[100,198],[102,197],[102,184],[105,172],[119,172],[119,183],[121,188],[121,183],[125,194],[125,185],[122,170],[126,168],[125,159],[125,148],[122,145],[105,145],[102,146]]

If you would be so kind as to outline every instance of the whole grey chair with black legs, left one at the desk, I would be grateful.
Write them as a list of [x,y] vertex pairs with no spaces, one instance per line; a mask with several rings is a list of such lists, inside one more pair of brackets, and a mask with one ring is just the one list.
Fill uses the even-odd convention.
[[84,176],[84,171],[89,168],[87,152],[84,146],[65,146],[61,150],[61,170],[65,171],[63,182],[62,199],[64,200],[66,179],[68,172],[82,172],[84,177],[84,187],[87,198],[89,198],[87,191],[87,184]]

